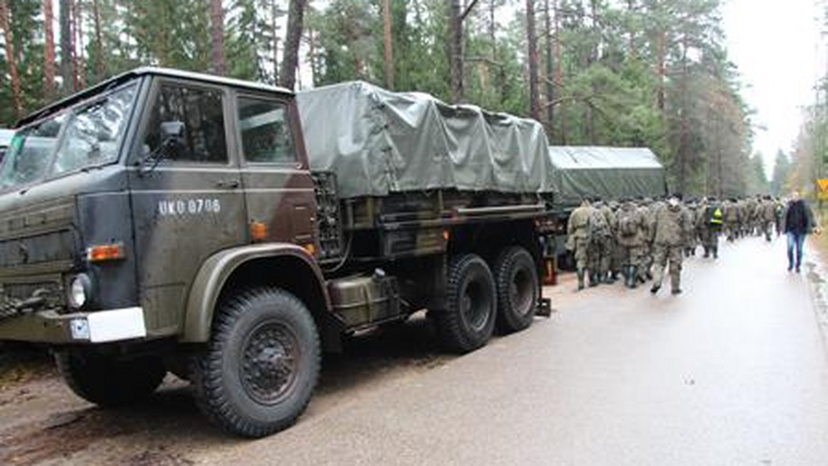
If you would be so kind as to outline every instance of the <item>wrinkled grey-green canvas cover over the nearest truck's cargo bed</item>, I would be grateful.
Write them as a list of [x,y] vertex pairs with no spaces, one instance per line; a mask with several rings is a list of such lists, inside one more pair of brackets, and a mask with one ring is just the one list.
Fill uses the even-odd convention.
[[540,123],[361,81],[296,95],[310,168],[335,172],[339,196],[456,188],[548,193]]

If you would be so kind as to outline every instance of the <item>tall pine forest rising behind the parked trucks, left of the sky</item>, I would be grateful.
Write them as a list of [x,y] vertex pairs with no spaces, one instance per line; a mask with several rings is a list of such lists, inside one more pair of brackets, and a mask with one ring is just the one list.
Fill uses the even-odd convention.
[[140,65],[363,79],[535,118],[553,145],[650,147],[685,195],[764,194],[723,1],[0,0],[0,127]]

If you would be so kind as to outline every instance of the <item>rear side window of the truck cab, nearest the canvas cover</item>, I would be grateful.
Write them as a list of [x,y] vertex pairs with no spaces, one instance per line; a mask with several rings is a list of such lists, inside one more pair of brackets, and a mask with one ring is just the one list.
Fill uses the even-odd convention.
[[296,161],[285,104],[239,97],[238,128],[245,160],[253,163]]

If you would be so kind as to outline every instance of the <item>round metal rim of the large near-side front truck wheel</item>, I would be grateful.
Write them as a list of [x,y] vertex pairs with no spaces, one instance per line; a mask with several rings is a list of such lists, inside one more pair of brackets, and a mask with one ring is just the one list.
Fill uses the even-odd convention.
[[263,405],[278,404],[296,385],[300,359],[299,342],[290,329],[275,322],[260,324],[243,347],[245,392]]

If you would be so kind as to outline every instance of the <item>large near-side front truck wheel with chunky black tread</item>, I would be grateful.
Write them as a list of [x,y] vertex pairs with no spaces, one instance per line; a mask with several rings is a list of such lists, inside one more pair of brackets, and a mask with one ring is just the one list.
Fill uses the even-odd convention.
[[210,420],[258,438],[296,422],[319,371],[319,334],[306,305],[286,291],[258,288],[219,308],[192,381]]

